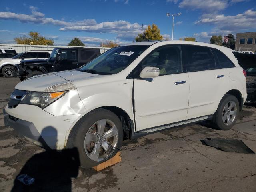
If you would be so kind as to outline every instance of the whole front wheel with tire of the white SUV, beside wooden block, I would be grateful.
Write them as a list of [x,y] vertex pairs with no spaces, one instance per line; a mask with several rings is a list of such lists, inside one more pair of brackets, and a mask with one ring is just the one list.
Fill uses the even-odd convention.
[[76,123],[66,148],[76,147],[81,166],[91,168],[115,156],[122,140],[123,129],[118,116],[106,109],[96,109]]

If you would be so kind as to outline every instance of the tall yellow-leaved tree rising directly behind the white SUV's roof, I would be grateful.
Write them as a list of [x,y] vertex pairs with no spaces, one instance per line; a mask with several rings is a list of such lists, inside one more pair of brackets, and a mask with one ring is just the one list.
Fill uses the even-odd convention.
[[148,28],[146,28],[143,34],[138,33],[138,36],[135,37],[136,42],[162,40],[162,39],[163,39],[163,36],[160,35],[160,29],[155,24],[152,24],[152,27],[148,25]]

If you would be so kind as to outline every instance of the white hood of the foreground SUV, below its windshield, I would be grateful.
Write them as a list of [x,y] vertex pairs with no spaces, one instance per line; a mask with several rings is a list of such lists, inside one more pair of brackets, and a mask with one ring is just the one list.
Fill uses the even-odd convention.
[[45,91],[50,86],[76,82],[77,80],[86,80],[94,76],[101,76],[97,74],[91,74],[86,72],[80,72],[77,70],[69,70],[56,73],[48,73],[32,78],[28,78],[25,81],[18,83],[15,89],[26,90],[26,91]]

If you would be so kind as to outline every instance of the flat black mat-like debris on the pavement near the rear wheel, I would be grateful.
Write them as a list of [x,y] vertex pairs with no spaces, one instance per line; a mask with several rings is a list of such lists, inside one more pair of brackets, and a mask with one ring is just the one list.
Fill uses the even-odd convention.
[[255,154],[242,140],[238,139],[207,138],[201,142],[226,152]]

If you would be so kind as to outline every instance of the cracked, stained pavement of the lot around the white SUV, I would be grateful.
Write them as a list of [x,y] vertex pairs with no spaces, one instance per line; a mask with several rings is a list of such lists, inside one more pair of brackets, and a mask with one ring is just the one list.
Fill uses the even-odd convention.
[[[126,140],[121,151],[122,162],[96,172],[72,168],[60,156],[4,127],[2,109],[18,82],[16,78],[0,77],[1,192],[13,188],[21,170],[36,177],[38,187],[29,191],[256,191],[255,154],[222,152],[200,142],[206,138],[236,138],[256,152],[256,109],[252,106],[244,107],[229,131],[195,124]],[[15,186],[19,187],[19,183]],[[26,188],[17,191],[22,190],[28,191]]]

